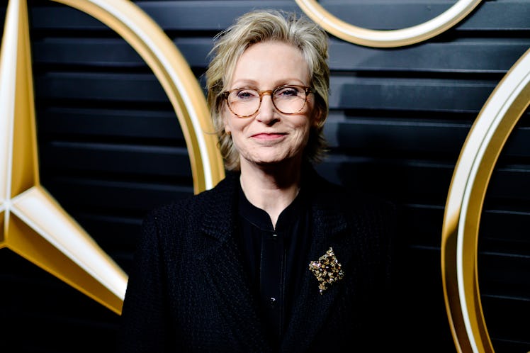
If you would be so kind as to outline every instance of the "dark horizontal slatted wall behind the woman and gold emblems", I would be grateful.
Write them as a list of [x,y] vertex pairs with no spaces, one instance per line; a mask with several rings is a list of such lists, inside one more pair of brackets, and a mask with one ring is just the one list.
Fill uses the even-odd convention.
[[[174,40],[202,86],[213,35],[236,16],[298,9],[294,1],[135,2]],[[357,26],[393,29],[454,2],[321,4]],[[102,23],[34,0],[30,26],[43,184],[127,270],[143,215],[193,192],[179,123],[149,67]],[[397,345],[409,351],[454,352],[439,264],[447,191],[470,126],[529,38],[527,0],[483,1],[456,28],[410,47],[331,38],[325,132],[332,148],[317,169],[399,206]],[[480,227],[480,290],[496,352],[530,350],[529,141],[526,113],[497,164]],[[0,251],[0,281],[0,335],[18,346],[13,352],[114,352],[119,318],[110,310],[9,250]]]

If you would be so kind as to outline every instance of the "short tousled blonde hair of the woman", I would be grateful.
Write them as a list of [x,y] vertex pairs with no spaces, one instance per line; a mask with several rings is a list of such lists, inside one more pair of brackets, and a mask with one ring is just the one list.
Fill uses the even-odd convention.
[[225,133],[222,117],[225,103],[222,93],[235,70],[239,57],[253,44],[277,40],[298,47],[308,63],[310,86],[315,92],[317,126],[310,130],[304,156],[309,162],[320,162],[327,143],[323,128],[328,113],[329,67],[327,65],[328,37],[322,28],[308,18],[295,13],[276,10],[258,10],[237,18],[234,25],[215,36],[215,44],[210,55],[212,60],[206,71],[208,105],[225,167],[239,169],[239,152],[232,138]]

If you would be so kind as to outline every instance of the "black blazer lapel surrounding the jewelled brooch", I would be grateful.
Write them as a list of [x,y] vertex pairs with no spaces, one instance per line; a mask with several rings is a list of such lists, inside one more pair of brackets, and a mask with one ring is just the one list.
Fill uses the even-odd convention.
[[[325,203],[324,203],[325,204]],[[320,203],[322,205],[322,203]],[[344,216],[334,207],[312,208],[312,245],[308,254],[308,269],[304,272],[300,296],[295,298],[293,312],[284,336],[281,352],[303,352],[319,332],[329,315],[330,308],[344,289],[341,281],[330,286],[322,294],[317,281],[309,269],[311,261],[318,260],[332,247],[339,263],[347,264],[351,257],[349,246],[344,246],[349,230]],[[345,273],[344,276],[349,276]]]

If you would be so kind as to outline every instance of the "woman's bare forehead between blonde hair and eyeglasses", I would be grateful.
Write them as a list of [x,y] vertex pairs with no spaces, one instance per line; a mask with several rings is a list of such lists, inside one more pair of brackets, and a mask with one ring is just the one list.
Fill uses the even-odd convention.
[[[288,43],[256,43],[244,50],[235,63],[232,84],[308,84],[310,73],[303,52]],[[269,87],[271,88],[271,87]]]

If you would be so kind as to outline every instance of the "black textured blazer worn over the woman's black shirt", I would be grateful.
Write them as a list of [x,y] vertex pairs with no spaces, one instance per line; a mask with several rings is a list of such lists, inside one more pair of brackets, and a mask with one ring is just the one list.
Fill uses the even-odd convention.
[[[344,278],[322,294],[308,269],[279,352],[345,352],[389,335],[390,203],[349,194],[311,169],[312,245]],[[235,240],[239,174],[145,219],[122,314],[120,352],[273,352]],[[361,349],[360,352],[366,352]]]

